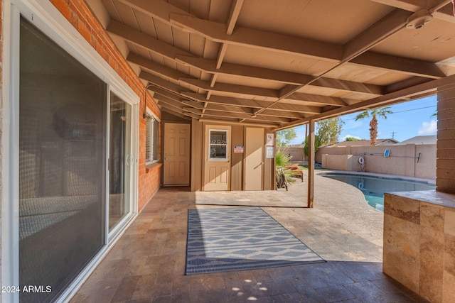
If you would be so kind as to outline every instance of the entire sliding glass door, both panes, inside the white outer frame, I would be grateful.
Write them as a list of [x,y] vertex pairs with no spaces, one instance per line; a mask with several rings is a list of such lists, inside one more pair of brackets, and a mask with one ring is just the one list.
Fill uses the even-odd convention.
[[106,84],[26,18],[18,36],[19,185],[9,202],[19,214],[18,297],[53,302],[134,217],[139,98]]

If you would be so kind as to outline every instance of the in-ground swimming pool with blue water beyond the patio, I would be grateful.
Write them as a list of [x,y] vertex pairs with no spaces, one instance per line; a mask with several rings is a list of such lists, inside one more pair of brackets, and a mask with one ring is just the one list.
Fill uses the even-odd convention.
[[411,192],[414,190],[432,190],[436,186],[427,182],[403,180],[399,178],[373,177],[366,175],[341,174],[337,172],[323,172],[323,177],[351,184],[360,189],[370,206],[384,211],[385,192]]

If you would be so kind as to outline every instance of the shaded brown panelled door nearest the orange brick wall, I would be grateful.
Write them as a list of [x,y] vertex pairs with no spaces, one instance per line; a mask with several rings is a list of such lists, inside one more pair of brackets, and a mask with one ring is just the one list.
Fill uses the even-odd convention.
[[164,123],[163,184],[190,184],[190,124]]

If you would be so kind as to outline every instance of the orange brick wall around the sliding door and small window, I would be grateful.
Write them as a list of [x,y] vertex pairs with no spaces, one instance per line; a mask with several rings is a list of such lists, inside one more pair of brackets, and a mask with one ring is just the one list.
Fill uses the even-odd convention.
[[[131,87],[141,98],[139,105],[139,211],[151,199],[160,186],[161,165],[146,169],[145,165],[145,136],[146,121],[142,119],[144,114],[144,84],[139,80],[129,67],[122,55],[115,47],[112,40],[105,33],[102,26],[82,0],[50,0],[50,2],[62,13],[63,16],[79,31],[90,45],[99,53],[117,74]],[[147,93],[148,94],[148,93]],[[150,94],[146,97],[147,106],[161,119],[161,111]]]

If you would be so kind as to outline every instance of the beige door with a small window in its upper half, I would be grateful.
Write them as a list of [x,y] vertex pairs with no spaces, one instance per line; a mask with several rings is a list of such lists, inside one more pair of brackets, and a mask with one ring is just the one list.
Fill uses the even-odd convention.
[[204,190],[230,190],[230,126],[205,126]]

